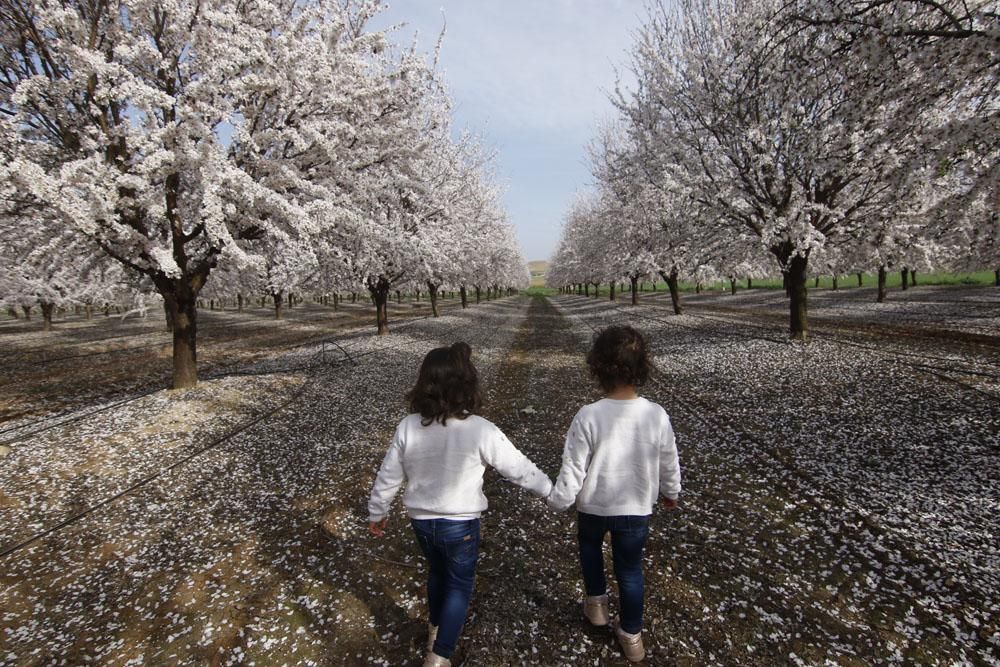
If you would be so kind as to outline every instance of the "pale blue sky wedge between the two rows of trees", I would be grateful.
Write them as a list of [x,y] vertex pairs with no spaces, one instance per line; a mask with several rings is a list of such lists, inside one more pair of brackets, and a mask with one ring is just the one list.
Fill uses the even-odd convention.
[[393,41],[431,51],[455,125],[497,150],[511,222],[526,259],[547,259],[563,213],[590,182],[586,145],[613,115],[615,68],[628,72],[641,0],[395,0],[372,24],[406,23]]

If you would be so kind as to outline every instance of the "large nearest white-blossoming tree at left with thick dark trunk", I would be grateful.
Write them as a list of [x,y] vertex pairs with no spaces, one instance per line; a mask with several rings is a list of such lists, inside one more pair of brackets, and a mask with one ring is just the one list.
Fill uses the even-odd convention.
[[394,157],[421,66],[364,32],[377,6],[0,3],[0,115],[17,136],[3,178],[152,280],[174,387],[197,381],[196,299],[223,249],[250,261],[245,242],[276,231],[386,215],[358,209],[350,175]]

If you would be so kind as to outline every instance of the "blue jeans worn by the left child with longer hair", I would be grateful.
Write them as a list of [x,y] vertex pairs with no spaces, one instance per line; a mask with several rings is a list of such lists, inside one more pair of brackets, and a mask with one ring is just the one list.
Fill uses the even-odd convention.
[[438,626],[434,652],[450,658],[472,599],[479,560],[479,519],[411,519],[420,550],[427,557],[427,606]]

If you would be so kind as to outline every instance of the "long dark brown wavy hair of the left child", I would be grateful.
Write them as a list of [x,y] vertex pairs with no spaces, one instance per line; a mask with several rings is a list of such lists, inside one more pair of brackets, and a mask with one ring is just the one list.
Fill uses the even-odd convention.
[[447,425],[449,417],[465,419],[479,410],[479,375],[472,365],[472,348],[458,342],[436,347],[420,364],[417,384],[406,393],[410,412],[419,413],[420,423]]

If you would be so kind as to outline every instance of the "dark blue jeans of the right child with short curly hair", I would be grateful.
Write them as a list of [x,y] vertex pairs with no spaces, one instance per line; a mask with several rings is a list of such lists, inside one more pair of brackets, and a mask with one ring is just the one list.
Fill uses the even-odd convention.
[[621,629],[635,634],[642,630],[642,549],[649,537],[648,516],[597,516],[577,512],[580,567],[587,595],[608,592],[604,579],[604,534],[611,533],[611,558],[618,580]]

